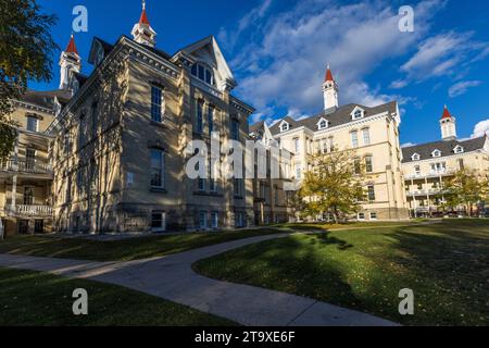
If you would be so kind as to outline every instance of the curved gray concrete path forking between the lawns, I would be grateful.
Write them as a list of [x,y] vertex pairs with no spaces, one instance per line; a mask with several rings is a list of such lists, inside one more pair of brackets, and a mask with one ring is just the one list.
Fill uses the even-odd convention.
[[392,326],[396,323],[314,299],[195,273],[192,263],[225,251],[289,234],[259,236],[163,258],[95,262],[0,254],[0,266],[43,271],[121,285],[251,326]]

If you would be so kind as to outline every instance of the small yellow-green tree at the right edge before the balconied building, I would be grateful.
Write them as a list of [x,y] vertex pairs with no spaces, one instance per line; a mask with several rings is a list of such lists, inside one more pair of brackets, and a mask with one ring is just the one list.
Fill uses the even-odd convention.
[[488,198],[489,182],[484,175],[468,169],[460,170],[450,177],[443,188],[446,207],[464,207],[468,216],[473,215],[474,206]]

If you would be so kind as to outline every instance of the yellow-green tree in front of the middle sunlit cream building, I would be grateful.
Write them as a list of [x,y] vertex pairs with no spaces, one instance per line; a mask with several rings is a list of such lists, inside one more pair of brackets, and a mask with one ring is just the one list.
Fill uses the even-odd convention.
[[365,200],[365,166],[352,150],[310,157],[313,170],[304,174],[301,192],[304,213],[329,213],[338,223],[360,210]]

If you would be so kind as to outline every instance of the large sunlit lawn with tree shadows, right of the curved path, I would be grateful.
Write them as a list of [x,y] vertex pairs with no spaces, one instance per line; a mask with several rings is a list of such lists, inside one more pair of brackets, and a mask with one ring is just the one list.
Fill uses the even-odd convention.
[[[199,261],[196,271],[406,325],[489,325],[489,221],[293,235]],[[415,314],[398,312],[411,288]]]

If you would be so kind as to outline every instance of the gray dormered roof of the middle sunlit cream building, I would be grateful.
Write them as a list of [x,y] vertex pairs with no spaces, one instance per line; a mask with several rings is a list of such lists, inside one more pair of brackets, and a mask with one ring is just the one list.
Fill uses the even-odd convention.
[[[398,104],[396,101],[391,101],[391,102],[388,102],[388,103],[385,103],[385,104],[381,104],[378,107],[374,107],[374,108],[368,108],[368,107],[361,105],[361,104],[346,104],[336,110],[322,111],[321,113],[316,114],[315,116],[311,116],[311,117],[300,120],[300,121],[294,121],[290,116],[286,116],[283,120],[285,120],[289,123],[290,129],[304,126],[313,132],[316,132],[317,123],[319,122],[321,119],[325,119],[325,120],[329,121],[329,127],[336,127],[339,125],[343,125],[343,124],[353,122],[351,120],[350,114],[356,107],[365,110],[364,119],[367,119],[369,116],[373,116],[373,115],[376,115],[376,114],[379,114],[383,112],[388,112],[389,114],[394,113],[394,112],[397,112],[397,105]],[[272,127],[269,127],[273,135],[277,135],[280,133],[280,129],[279,129],[280,123],[281,123],[281,120],[278,121],[277,123],[275,123]]]

